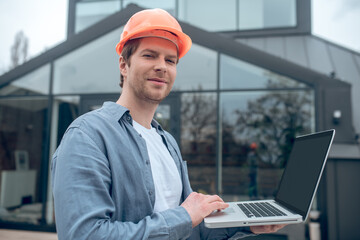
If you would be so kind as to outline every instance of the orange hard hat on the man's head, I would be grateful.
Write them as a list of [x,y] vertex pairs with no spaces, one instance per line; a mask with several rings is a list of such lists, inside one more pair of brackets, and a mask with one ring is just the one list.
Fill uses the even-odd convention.
[[116,52],[121,51],[128,40],[143,37],[159,37],[172,41],[182,58],[191,47],[191,38],[183,33],[178,21],[165,10],[155,8],[135,13],[126,23],[116,45]]

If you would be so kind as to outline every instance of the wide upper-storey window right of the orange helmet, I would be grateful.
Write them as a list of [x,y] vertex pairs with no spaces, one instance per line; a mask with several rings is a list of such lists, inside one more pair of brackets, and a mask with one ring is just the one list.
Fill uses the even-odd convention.
[[184,0],[178,13],[180,20],[207,31],[296,26],[296,0]]

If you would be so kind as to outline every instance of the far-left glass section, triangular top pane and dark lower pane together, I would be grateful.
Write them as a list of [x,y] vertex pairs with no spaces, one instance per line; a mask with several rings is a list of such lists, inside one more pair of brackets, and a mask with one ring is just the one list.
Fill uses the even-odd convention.
[[46,202],[50,64],[0,89],[0,219],[40,224]]

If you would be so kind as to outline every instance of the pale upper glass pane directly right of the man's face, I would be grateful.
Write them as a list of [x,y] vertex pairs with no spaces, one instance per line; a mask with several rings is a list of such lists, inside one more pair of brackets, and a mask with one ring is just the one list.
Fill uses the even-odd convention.
[[217,53],[193,44],[177,66],[175,90],[216,89]]

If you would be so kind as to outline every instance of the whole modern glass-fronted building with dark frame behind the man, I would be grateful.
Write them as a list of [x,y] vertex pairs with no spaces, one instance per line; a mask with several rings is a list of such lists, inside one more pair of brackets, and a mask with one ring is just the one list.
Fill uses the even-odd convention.
[[[360,198],[350,99],[350,60],[360,58],[311,35],[310,0],[69,0],[67,41],[0,76],[0,228],[56,231],[51,156],[74,119],[121,94],[115,45],[141,10],[133,3],[167,10],[193,39],[154,116],[178,142],[193,189],[272,198],[294,137],[335,128],[313,207],[324,239],[359,239],[349,209]],[[305,238],[305,225],[292,227],[288,239]]]

